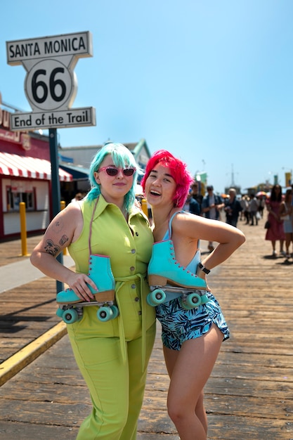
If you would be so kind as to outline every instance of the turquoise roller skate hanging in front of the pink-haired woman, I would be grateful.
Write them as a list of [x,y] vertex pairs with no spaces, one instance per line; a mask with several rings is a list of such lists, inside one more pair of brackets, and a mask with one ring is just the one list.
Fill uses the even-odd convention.
[[172,240],[152,245],[148,283],[151,292],[147,296],[147,302],[153,307],[178,297],[181,297],[181,305],[185,310],[209,302],[207,283],[178,263]]

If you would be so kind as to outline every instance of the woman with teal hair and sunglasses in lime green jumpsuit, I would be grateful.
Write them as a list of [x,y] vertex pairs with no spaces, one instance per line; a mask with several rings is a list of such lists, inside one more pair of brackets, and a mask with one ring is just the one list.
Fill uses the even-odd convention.
[[[91,162],[88,195],[51,221],[31,256],[34,266],[70,287],[57,295],[61,308],[93,302],[83,306],[82,317],[67,323],[93,403],[79,440],[136,439],[155,340],[155,309],[146,302],[153,238],[148,219],[135,204],[138,173],[134,156],[124,145],[105,144]],[[65,247],[75,272],[56,260]],[[116,312],[100,321],[102,308],[96,303],[111,292]]]

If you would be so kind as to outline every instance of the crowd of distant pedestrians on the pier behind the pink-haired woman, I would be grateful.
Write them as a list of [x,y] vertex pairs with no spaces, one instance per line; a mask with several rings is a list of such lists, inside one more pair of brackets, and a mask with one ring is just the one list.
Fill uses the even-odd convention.
[[[277,257],[276,244],[280,244],[280,256],[290,259],[293,257],[293,202],[292,188],[287,188],[282,195],[282,188],[276,184],[271,188],[271,193],[259,195],[237,196],[235,188],[228,190],[228,195],[223,198],[214,194],[214,188],[207,186],[207,194],[198,193],[200,183],[195,182],[190,186],[185,209],[193,214],[201,215],[207,219],[222,220],[237,227],[238,220],[245,221],[249,226],[258,226],[259,220],[267,216],[265,240],[271,241],[272,257]],[[293,187],[293,186],[292,186]],[[209,252],[214,250],[214,243],[209,242]]]

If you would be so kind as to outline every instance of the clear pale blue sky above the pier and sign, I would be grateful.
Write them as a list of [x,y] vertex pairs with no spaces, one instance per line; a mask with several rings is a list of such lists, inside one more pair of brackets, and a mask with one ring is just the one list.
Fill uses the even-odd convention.
[[292,0],[13,0],[1,4],[0,91],[30,111],[25,68],[6,41],[89,31],[72,108],[96,127],[58,129],[62,146],[145,138],[217,192],[293,168]]

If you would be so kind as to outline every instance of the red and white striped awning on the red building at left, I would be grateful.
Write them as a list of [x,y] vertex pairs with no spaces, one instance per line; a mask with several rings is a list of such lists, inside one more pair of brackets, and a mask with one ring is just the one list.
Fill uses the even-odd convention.
[[[0,152],[0,174],[27,177],[29,179],[51,180],[51,162],[37,157],[25,157]],[[59,168],[60,181],[72,181],[72,175]]]

